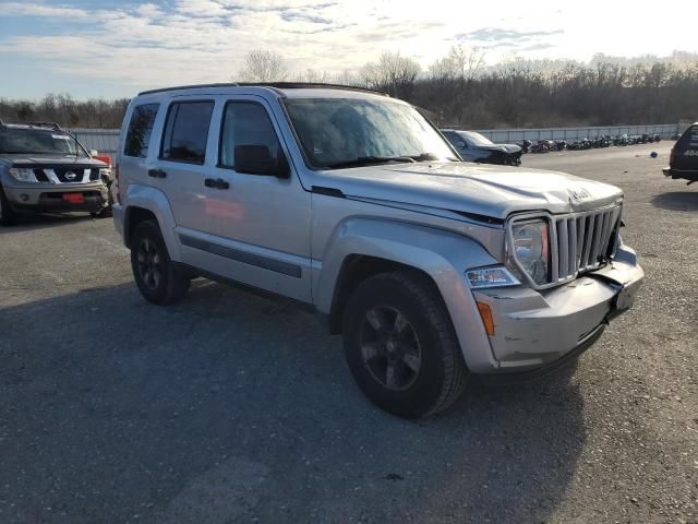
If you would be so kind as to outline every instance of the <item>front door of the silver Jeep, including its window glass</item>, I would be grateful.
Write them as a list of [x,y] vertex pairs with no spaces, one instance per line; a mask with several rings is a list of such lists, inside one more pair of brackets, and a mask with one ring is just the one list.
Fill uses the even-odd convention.
[[292,165],[286,178],[236,170],[239,146],[268,152],[272,163],[284,163],[290,156],[263,98],[221,102],[217,166],[206,196],[209,249],[216,252],[214,271],[311,301],[311,194],[303,190]]

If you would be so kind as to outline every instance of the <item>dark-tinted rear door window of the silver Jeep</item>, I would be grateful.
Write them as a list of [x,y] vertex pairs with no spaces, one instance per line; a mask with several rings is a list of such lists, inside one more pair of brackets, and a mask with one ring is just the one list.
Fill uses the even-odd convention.
[[171,104],[165,122],[160,158],[203,164],[213,110],[213,100]]

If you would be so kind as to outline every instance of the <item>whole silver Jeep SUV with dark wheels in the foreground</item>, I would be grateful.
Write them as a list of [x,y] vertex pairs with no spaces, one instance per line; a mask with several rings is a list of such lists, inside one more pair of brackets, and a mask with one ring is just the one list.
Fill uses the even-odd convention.
[[141,93],[117,183],[147,300],[206,276],[310,305],[365,395],[401,417],[444,409],[473,376],[575,358],[643,277],[618,188],[464,163],[412,106],[363,90]]

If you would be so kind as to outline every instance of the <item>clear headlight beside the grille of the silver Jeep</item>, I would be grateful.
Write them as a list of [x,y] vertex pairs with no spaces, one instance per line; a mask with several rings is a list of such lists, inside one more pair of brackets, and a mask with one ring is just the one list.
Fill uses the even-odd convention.
[[512,225],[516,261],[539,286],[549,283],[550,236],[543,219],[515,222]]

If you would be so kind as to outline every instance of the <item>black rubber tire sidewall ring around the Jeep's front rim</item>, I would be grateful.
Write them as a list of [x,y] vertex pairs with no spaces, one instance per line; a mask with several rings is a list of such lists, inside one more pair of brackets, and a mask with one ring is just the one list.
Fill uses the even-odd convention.
[[[430,313],[429,305],[422,302],[423,298],[396,281],[371,278],[354,291],[345,315],[345,356],[354,380],[374,404],[405,418],[428,414],[438,401],[445,380],[443,340],[434,326],[433,311]],[[364,364],[361,330],[366,311],[376,306],[388,306],[402,312],[419,340],[421,367],[417,380],[406,390],[388,390]]]

